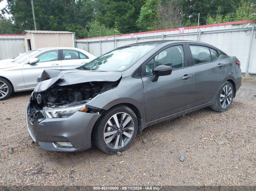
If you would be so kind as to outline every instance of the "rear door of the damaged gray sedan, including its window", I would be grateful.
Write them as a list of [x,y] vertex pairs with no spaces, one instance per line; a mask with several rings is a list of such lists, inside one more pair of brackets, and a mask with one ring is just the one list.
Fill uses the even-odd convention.
[[186,43],[193,60],[194,100],[193,107],[210,102],[220,88],[225,75],[226,63],[218,49],[198,44]]

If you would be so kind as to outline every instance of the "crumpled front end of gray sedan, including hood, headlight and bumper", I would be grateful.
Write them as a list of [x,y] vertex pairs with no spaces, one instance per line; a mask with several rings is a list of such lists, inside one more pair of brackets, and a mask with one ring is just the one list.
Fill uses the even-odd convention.
[[91,132],[103,110],[87,103],[118,86],[121,73],[80,71],[45,70],[38,78],[26,113],[28,132],[42,149],[78,151],[91,147]]

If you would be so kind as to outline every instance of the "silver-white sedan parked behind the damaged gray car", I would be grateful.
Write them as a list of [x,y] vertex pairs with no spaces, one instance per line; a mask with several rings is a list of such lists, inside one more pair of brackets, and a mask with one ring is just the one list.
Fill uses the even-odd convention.
[[0,64],[0,100],[12,92],[33,90],[45,69],[72,69],[96,56],[78,48],[54,47],[30,50],[12,62]]

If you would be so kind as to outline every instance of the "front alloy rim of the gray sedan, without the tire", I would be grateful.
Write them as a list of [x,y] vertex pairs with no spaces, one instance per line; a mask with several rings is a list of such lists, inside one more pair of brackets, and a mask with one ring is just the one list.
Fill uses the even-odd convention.
[[124,147],[134,132],[134,122],[128,113],[120,112],[111,116],[104,128],[105,143],[114,149]]

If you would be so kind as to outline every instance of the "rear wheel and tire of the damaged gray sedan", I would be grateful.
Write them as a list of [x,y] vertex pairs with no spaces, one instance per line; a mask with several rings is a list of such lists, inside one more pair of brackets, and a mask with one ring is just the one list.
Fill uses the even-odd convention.
[[[228,88],[228,89],[226,89],[226,88]],[[230,88],[232,91],[231,94],[230,94]],[[228,93],[226,93],[227,90],[228,90]],[[219,90],[219,92],[217,94],[215,103],[213,105],[211,105],[211,109],[213,109],[214,111],[218,111],[218,112],[227,111],[228,108],[231,106],[231,103],[233,102],[233,97],[234,97],[233,85],[229,81],[226,81],[221,86],[221,89]]]

